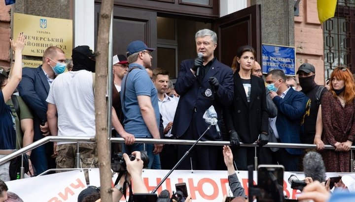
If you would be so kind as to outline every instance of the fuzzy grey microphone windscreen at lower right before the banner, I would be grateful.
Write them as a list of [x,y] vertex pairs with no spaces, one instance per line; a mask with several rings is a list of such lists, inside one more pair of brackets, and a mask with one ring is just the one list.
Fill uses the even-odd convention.
[[325,181],[325,167],[320,153],[308,152],[303,158],[303,170],[306,177],[312,177],[313,181]]

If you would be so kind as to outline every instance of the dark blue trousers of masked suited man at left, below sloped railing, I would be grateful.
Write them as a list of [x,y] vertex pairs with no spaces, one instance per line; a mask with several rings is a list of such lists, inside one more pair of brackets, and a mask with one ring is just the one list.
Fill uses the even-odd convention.
[[36,169],[36,174],[40,174],[48,170],[48,161],[45,151],[45,145],[40,145],[32,150],[31,163]]

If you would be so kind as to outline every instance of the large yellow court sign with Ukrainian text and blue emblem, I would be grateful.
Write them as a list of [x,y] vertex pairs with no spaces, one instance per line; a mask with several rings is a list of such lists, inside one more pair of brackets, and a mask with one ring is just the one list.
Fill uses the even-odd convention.
[[14,13],[13,22],[14,39],[20,32],[26,36],[23,55],[42,57],[48,47],[56,46],[71,58],[72,20]]

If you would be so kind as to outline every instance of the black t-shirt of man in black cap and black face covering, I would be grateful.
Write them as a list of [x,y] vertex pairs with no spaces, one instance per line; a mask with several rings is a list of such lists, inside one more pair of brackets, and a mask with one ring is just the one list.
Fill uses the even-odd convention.
[[[306,96],[311,99],[311,107],[310,107],[310,115],[305,116],[304,119],[304,132],[301,133],[300,139],[301,143],[303,144],[313,144],[314,143],[314,137],[316,135],[316,122],[317,122],[317,115],[318,115],[318,109],[319,105],[316,102],[316,93],[318,91],[318,88],[320,86],[317,85],[314,87],[312,90],[306,93]],[[327,89],[324,87],[323,90],[320,93],[320,98],[323,96],[324,92],[326,92]]]

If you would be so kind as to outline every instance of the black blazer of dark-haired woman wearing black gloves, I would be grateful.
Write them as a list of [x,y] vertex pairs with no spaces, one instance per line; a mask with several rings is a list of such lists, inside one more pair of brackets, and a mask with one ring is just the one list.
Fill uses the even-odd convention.
[[261,78],[251,75],[250,102],[238,72],[233,76],[234,98],[229,108],[224,109],[223,117],[227,131],[237,131],[241,142],[254,143],[259,134],[269,132],[266,106],[265,84]]

